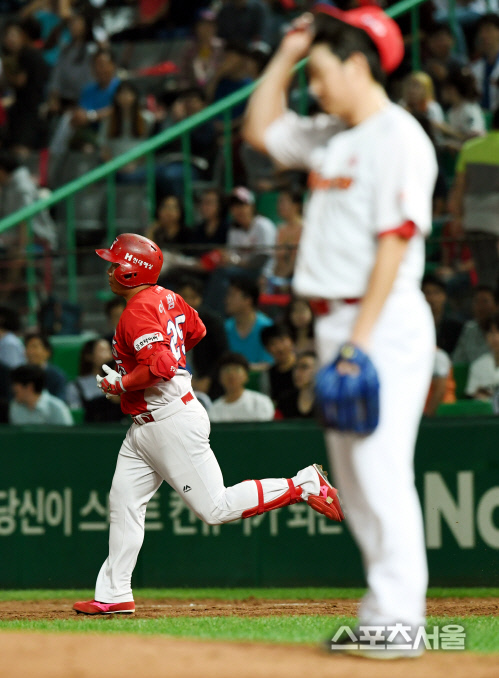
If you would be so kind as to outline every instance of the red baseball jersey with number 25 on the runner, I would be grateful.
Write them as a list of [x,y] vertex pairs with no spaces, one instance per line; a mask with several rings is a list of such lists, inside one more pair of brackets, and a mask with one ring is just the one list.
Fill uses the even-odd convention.
[[204,334],[205,326],[197,311],[171,290],[153,285],[133,296],[114,333],[113,355],[117,372],[130,374],[137,365],[147,363],[147,354],[157,348],[158,343],[168,346],[178,369],[169,380],[160,379],[149,388],[123,393],[123,412],[135,416],[185,395],[191,387],[185,354]]

